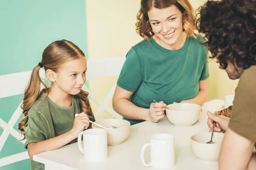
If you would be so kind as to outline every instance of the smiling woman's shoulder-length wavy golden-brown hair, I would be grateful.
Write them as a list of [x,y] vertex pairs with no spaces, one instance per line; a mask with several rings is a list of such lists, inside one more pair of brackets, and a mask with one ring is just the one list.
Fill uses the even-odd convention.
[[154,32],[148,21],[148,11],[152,7],[163,9],[172,5],[175,5],[182,13],[183,31],[187,33],[188,37],[195,37],[195,13],[189,0],[141,0],[141,7],[137,14],[136,32],[145,40],[151,41],[150,37],[154,35]]

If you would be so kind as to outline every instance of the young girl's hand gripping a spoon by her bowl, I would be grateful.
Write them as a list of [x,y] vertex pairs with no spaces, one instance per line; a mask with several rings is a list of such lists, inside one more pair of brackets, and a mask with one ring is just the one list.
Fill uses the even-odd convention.
[[90,122],[88,115],[83,112],[79,113],[74,119],[73,127],[70,132],[77,137],[80,132],[88,128],[89,124]]

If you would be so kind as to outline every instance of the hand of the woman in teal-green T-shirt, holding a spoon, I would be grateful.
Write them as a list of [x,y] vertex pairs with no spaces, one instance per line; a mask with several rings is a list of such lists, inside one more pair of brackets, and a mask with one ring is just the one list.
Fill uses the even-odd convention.
[[162,119],[165,116],[164,114],[165,109],[166,109],[166,104],[163,103],[163,101],[151,103],[149,108],[148,121],[158,122],[160,119]]

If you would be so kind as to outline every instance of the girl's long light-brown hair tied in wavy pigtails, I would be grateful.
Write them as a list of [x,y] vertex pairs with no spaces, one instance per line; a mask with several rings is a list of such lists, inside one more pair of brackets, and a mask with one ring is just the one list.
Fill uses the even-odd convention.
[[[50,69],[54,72],[58,72],[65,62],[79,59],[80,57],[85,57],[85,55],[83,51],[81,51],[81,49],[73,42],[67,40],[54,41],[49,44],[47,48],[45,48],[42,55],[41,65],[44,66],[45,71]],[[26,131],[24,128],[27,127],[29,109],[39,98],[41,93],[46,92],[46,94],[48,94],[49,92],[44,80],[39,76],[39,71],[40,66],[36,65],[25,89],[23,103],[20,105],[20,108],[23,109],[23,114],[25,116],[25,118],[19,122],[18,127],[19,130],[24,134],[24,138],[22,140],[26,139]],[[42,91],[40,90],[41,85],[44,86]],[[80,111],[86,113],[90,119],[93,119],[93,113],[87,98],[88,93],[81,90],[76,96],[78,96],[80,100]]]

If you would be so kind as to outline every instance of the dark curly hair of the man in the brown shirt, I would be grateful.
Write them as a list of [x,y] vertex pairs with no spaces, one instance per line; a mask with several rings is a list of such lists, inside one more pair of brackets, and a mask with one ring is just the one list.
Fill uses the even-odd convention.
[[208,0],[196,11],[199,34],[220,68],[227,61],[238,67],[256,65],[256,0]]

